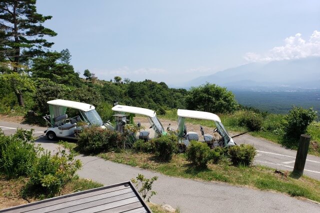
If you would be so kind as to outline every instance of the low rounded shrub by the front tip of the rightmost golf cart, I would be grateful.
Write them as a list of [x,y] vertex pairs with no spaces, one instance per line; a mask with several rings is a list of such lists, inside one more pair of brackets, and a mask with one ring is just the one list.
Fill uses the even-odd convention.
[[234,165],[250,165],[256,154],[253,145],[240,144],[229,147],[228,155]]

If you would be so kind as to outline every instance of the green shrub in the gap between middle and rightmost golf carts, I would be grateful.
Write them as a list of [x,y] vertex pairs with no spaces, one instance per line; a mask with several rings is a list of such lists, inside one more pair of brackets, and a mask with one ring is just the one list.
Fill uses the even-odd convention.
[[172,159],[173,153],[177,152],[177,142],[175,141],[174,136],[162,135],[152,139],[152,142],[154,142],[156,155],[163,161],[169,161]]

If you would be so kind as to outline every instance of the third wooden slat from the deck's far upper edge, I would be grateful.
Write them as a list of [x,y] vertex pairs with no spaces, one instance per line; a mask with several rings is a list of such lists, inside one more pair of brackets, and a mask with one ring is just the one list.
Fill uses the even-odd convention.
[[60,209],[56,209],[56,210],[53,210],[53,211],[45,211],[45,212],[57,213],[57,212],[80,211],[82,209],[94,208],[95,206],[100,206],[100,205],[103,205],[103,204],[119,201],[119,200],[122,200],[122,199],[131,198],[131,197],[134,197],[134,196],[135,196],[134,192],[129,192],[129,193],[125,193],[125,194],[121,194],[121,195],[117,195],[117,196],[107,197],[105,199],[99,199],[99,200],[95,200],[95,201],[92,201],[92,202],[86,202],[86,203],[78,203],[77,205],[69,206],[69,207],[66,207],[66,208],[60,208]]

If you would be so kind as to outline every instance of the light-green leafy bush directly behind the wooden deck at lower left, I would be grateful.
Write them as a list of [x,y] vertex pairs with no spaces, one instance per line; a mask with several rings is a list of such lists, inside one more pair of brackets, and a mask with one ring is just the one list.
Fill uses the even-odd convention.
[[22,190],[24,195],[45,194],[52,197],[59,194],[81,167],[81,161],[74,160],[73,155],[65,150],[58,150],[54,155],[50,151],[42,151],[28,173],[30,179]]

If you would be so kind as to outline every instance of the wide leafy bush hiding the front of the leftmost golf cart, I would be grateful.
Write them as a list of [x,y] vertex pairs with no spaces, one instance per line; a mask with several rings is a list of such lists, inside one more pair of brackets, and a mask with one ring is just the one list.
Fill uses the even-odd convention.
[[99,126],[84,128],[77,136],[78,149],[84,153],[98,153],[121,147],[123,134]]

